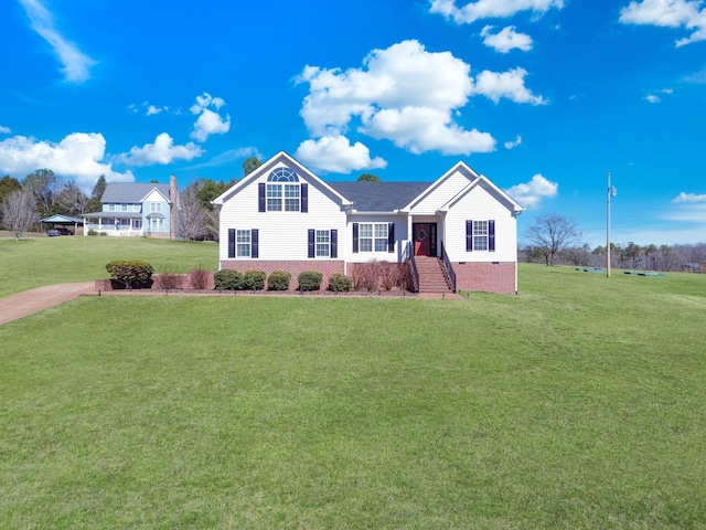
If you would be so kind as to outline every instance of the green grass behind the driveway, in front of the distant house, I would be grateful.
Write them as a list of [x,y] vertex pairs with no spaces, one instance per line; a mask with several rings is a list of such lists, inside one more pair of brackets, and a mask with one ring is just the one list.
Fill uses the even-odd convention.
[[113,259],[145,259],[156,273],[218,268],[218,245],[146,237],[0,239],[0,297],[42,285],[109,277]]

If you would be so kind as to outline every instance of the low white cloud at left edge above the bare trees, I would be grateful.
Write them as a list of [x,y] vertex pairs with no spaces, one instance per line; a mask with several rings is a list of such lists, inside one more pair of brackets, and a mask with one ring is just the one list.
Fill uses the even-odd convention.
[[98,177],[132,182],[131,171],[120,173],[105,161],[106,140],[98,132],[73,132],[58,144],[15,136],[0,141],[0,171],[23,177],[40,168],[49,168],[60,177],[76,180],[90,190]]

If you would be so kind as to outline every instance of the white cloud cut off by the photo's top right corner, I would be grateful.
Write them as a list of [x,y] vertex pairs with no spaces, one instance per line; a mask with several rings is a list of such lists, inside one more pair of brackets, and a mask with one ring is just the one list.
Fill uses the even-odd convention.
[[681,28],[693,33],[676,41],[677,46],[706,40],[706,9],[700,0],[643,0],[631,1],[620,10],[623,24]]

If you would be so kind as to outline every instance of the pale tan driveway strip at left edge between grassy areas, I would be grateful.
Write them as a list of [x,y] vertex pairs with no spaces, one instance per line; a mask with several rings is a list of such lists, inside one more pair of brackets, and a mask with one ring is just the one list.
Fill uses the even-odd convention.
[[58,306],[81,295],[93,294],[94,282],[79,284],[57,284],[36,287],[17,295],[0,298],[0,326],[17,320],[33,312]]

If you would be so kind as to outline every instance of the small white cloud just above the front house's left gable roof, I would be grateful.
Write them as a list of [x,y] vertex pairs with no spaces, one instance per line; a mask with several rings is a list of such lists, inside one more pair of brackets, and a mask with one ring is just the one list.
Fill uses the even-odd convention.
[[363,144],[356,141],[351,145],[351,140],[344,136],[304,140],[295,157],[312,169],[333,173],[387,167],[387,162],[379,157],[371,159],[370,149]]

